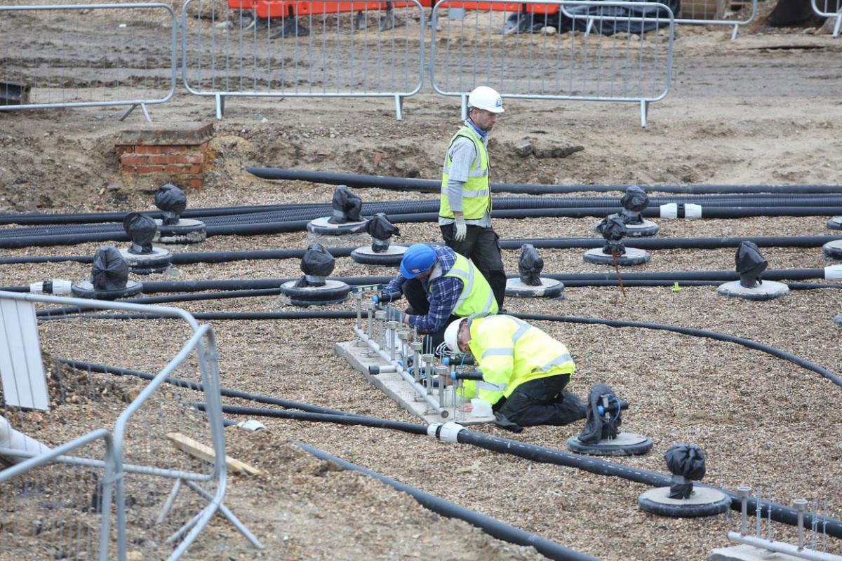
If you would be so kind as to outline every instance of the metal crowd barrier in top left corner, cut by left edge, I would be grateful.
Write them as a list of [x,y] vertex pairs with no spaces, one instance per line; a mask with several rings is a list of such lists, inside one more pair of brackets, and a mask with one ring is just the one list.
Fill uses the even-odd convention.
[[[115,13],[120,13],[119,17]],[[177,20],[163,3],[0,6],[0,110],[166,103]]]

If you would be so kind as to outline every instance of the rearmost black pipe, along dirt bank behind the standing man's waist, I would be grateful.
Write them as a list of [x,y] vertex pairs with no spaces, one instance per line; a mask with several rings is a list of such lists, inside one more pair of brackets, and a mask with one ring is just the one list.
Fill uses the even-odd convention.
[[[246,171],[264,179],[288,179],[328,185],[347,185],[351,188],[398,189],[438,193],[441,180],[360,173],[316,172],[282,167],[247,166]],[[625,191],[628,185],[530,185],[492,183],[493,193],[606,193]],[[842,193],[842,185],[641,185],[648,191],[661,193]]]

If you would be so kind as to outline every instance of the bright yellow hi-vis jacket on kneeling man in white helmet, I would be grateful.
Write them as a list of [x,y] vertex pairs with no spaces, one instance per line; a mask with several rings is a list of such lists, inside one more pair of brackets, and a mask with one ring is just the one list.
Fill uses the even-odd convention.
[[482,370],[482,382],[465,381],[466,399],[479,397],[493,405],[520,384],[576,371],[568,347],[525,321],[511,315],[469,321],[468,347]]

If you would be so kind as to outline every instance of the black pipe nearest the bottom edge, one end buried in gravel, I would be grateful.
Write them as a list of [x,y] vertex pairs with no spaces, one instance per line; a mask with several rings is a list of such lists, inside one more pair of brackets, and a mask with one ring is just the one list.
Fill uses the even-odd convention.
[[301,447],[301,449],[311,453],[316,458],[337,463],[345,469],[358,471],[361,474],[368,475],[369,477],[380,479],[383,483],[411,495],[420,505],[430,511],[437,512],[442,516],[447,516],[448,518],[458,518],[460,520],[464,520],[468,524],[478,527],[488,535],[501,539],[504,542],[536,548],[538,553],[541,553],[541,555],[544,555],[546,558],[559,559],[561,561],[599,561],[599,559],[591,557],[590,555],[580,553],[575,549],[566,548],[560,543],[552,542],[551,540],[546,539],[546,537],[536,536],[535,534],[525,532],[525,530],[521,530],[520,528],[509,526],[509,524],[498,521],[495,518],[482,515],[476,511],[471,511],[466,509],[464,506],[456,505],[456,503],[451,503],[450,501],[441,499],[435,495],[430,495],[422,490],[410,487],[408,484],[403,484],[400,481],[378,474],[368,468],[362,468],[354,463],[350,463],[342,458],[337,458],[332,454],[319,450],[318,448],[308,446],[303,442],[296,442],[296,446]]

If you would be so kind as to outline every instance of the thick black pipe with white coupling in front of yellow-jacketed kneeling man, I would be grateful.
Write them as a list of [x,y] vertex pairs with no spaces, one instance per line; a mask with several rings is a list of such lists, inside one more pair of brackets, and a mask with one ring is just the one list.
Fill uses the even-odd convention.
[[[229,408],[224,407],[223,410],[225,409]],[[264,411],[269,412],[264,413]],[[228,412],[233,415],[269,416],[297,419],[301,421],[333,422],[340,425],[375,426],[382,428],[390,428],[392,430],[408,432],[410,434],[416,435],[432,434],[434,435],[434,437],[446,440],[447,442],[452,442],[452,436],[448,438],[441,437],[443,431],[441,430],[440,423],[432,426],[413,425],[412,423],[404,422],[391,425],[389,423],[392,421],[385,421],[383,419],[378,419],[376,417],[367,417],[364,415],[289,415],[290,412],[288,411],[282,411],[278,413],[276,410],[265,410],[251,407],[240,407],[237,408],[237,410],[229,409],[225,412]],[[669,487],[670,482],[672,480],[670,475],[659,474],[658,472],[650,471],[647,469],[628,467],[621,463],[609,462],[608,460],[594,458],[593,456],[584,456],[574,453],[562,452],[561,450],[557,450],[555,448],[536,446],[534,444],[528,444],[526,442],[510,440],[509,438],[494,437],[492,435],[484,434],[482,432],[475,432],[470,431],[466,428],[459,428],[461,426],[459,426],[458,423],[448,423],[447,425],[456,426],[458,430],[456,432],[456,442],[459,442],[460,444],[470,444],[471,446],[481,447],[486,450],[491,450],[492,452],[511,454],[513,456],[518,456],[520,458],[525,458],[534,462],[553,463],[568,468],[582,469],[584,471],[590,472],[591,474],[605,475],[608,477],[619,477],[621,479],[634,481],[635,483],[647,484],[653,487]],[[715,487],[713,485],[700,485],[722,491],[722,493],[725,493],[726,495],[731,497],[731,508],[733,510],[739,511],[741,509],[741,499],[736,493],[733,493],[733,491],[719,489],[718,487]],[[791,526],[797,525],[798,516],[797,511],[795,509],[790,508],[786,505],[779,505],[777,503],[770,504],[768,502],[765,502],[764,506],[766,505],[771,505],[773,520],[784,522],[786,524],[790,524]],[[755,508],[756,501],[749,499],[749,512],[754,512]],[[804,516],[807,516],[807,514],[808,513],[805,512]],[[813,515],[811,514],[810,516]],[[829,535],[834,537],[842,537],[842,521],[835,520],[834,518],[829,518],[828,516],[818,515],[816,516],[816,520],[820,525],[824,525],[825,523],[827,524],[827,532],[829,533]],[[812,524],[813,519],[810,518],[808,520],[805,517],[804,522],[805,524]]]

